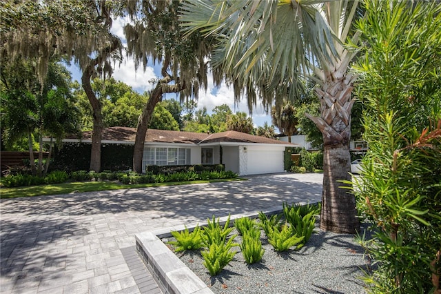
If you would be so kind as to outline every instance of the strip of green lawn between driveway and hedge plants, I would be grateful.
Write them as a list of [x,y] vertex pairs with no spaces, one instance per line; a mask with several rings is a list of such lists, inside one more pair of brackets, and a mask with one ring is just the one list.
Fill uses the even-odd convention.
[[73,194],[82,192],[93,192],[102,190],[119,190],[133,188],[147,188],[157,186],[174,186],[185,184],[203,184],[214,182],[230,182],[242,179],[210,179],[207,181],[189,181],[189,182],[167,182],[154,184],[133,184],[125,185],[120,182],[100,181],[100,182],[70,182],[63,184],[50,184],[39,186],[23,186],[17,188],[0,188],[0,198],[34,197],[41,195],[59,195]]

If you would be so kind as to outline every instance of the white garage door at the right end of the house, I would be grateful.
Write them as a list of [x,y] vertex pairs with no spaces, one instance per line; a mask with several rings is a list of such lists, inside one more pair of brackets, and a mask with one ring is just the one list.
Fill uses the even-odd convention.
[[283,173],[283,148],[248,146],[248,175]]

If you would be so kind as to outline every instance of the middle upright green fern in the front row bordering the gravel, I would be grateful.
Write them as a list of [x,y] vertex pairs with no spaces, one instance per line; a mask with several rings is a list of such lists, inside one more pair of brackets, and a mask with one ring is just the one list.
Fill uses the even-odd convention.
[[[237,227],[236,227],[237,228]],[[240,250],[247,264],[260,262],[265,253],[260,241],[260,229],[256,226],[250,226],[242,231],[242,243]]]

